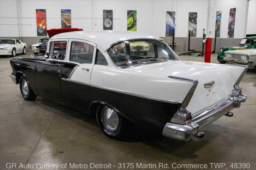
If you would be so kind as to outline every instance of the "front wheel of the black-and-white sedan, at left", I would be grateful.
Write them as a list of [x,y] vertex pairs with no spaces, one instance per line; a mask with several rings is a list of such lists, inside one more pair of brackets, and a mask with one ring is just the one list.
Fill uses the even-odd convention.
[[20,77],[20,92],[26,100],[34,100],[37,97],[34,91],[29,87],[28,81],[23,75]]

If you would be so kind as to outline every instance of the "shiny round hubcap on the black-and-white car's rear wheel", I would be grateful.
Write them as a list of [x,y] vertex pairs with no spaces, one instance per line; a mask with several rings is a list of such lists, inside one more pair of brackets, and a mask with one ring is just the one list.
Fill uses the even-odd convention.
[[119,125],[119,119],[116,111],[106,107],[102,111],[102,122],[103,125],[109,130],[114,132]]

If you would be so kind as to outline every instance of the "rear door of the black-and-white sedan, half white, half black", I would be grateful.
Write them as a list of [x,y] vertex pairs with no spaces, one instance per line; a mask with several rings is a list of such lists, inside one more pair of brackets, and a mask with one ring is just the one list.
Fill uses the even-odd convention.
[[[68,49],[61,81],[63,101],[72,108],[86,112],[90,104],[89,84],[96,45],[84,40],[69,39]],[[73,69],[68,71],[69,67]]]

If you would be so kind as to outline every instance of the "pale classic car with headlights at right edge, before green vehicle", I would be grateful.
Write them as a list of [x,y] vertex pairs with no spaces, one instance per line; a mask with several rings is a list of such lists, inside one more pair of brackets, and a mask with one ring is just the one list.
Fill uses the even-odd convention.
[[228,63],[248,65],[249,69],[254,69],[256,65],[256,48],[225,51],[225,59]]

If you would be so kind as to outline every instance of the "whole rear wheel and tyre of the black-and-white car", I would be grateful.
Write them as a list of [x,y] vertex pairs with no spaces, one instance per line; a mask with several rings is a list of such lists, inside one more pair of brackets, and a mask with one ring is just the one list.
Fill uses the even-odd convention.
[[97,122],[102,132],[109,138],[121,140],[128,134],[128,121],[114,109],[106,106],[97,108]]

